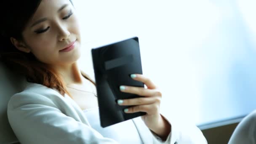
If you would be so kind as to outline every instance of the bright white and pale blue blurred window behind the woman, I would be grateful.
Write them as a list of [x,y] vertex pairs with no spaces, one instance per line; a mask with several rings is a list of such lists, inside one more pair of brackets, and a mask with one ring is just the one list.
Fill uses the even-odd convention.
[[83,41],[79,63],[92,78],[91,48],[137,36],[143,73],[163,93],[163,114],[206,131],[238,123],[256,108],[256,1],[74,3]]

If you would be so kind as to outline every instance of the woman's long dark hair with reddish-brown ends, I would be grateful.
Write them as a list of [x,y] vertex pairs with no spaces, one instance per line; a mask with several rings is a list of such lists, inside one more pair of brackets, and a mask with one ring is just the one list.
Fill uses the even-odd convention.
[[[64,80],[51,67],[38,61],[32,53],[19,51],[10,40],[23,40],[22,32],[32,18],[42,0],[1,0],[0,12],[0,61],[8,68],[26,77],[30,83],[38,83],[48,88],[56,88],[62,96],[70,95]],[[72,3],[72,0],[69,0]],[[72,3],[73,4],[73,3]],[[89,79],[85,73],[82,75]],[[89,79],[91,80],[91,79]]]

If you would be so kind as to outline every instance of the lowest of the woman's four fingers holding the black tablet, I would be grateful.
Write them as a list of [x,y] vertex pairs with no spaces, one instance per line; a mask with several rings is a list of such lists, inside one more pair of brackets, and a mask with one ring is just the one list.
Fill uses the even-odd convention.
[[133,106],[124,109],[125,113],[134,113],[134,112],[146,112],[147,114],[151,115],[154,113],[159,112],[159,105],[158,104],[146,104],[146,105],[139,105]]

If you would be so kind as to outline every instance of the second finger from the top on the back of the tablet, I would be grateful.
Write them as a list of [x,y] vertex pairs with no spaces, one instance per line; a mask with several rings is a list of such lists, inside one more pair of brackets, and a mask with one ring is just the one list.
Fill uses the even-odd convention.
[[147,89],[134,86],[121,85],[120,91],[125,93],[137,94],[139,96],[162,96],[162,93],[157,89]]

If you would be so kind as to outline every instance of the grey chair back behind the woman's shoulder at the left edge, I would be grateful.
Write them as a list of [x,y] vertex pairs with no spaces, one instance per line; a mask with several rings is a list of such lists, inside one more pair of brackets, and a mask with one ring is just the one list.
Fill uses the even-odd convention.
[[27,81],[0,61],[0,144],[19,144],[8,122],[7,104],[11,96],[23,91]]

